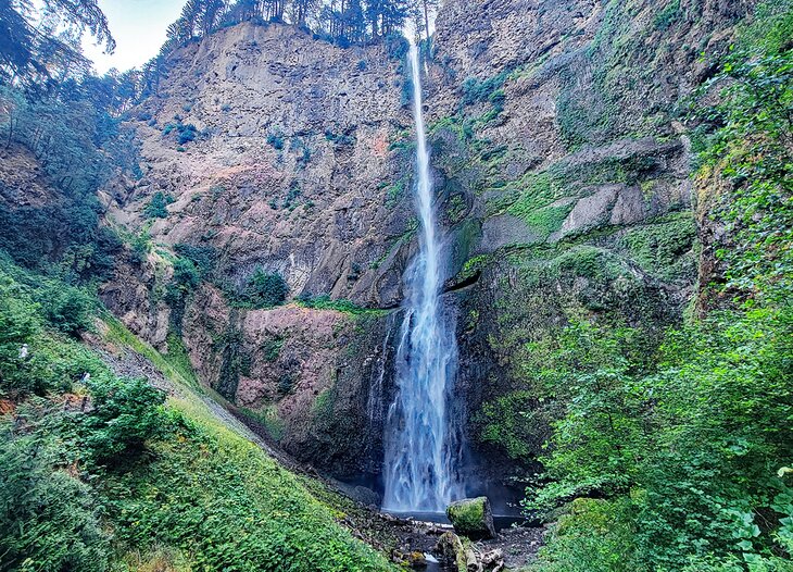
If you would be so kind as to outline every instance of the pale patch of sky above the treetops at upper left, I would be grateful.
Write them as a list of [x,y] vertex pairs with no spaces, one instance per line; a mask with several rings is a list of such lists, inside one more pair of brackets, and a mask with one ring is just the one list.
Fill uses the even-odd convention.
[[90,35],[83,39],[83,49],[93,61],[98,74],[111,67],[123,72],[140,67],[160,51],[165,29],[179,17],[186,0],[99,0],[108,16],[110,32],[116,41],[113,55],[102,53]]

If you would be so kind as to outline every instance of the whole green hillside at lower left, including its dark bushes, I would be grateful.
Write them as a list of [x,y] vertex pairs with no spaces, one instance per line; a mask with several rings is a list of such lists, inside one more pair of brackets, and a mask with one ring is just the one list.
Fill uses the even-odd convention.
[[4,570],[389,570],[117,321],[116,351],[133,341],[155,357],[182,397],[166,402],[58,332],[26,284],[37,277],[0,271],[0,398],[13,403],[0,423]]

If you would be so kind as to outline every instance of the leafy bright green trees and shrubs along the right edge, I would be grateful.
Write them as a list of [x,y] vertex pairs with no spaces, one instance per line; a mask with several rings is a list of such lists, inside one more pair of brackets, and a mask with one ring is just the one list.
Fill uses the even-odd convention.
[[577,499],[534,570],[793,569],[791,8],[758,7],[693,105],[702,224],[723,231],[701,315],[652,356],[593,316],[528,348],[554,421],[526,506]]

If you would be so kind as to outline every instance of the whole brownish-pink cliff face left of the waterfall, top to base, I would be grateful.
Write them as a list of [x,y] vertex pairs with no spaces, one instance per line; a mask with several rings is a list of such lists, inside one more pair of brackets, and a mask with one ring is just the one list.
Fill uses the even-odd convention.
[[[284,276],[290,299],[399,306],[415,221],[406,187],[394,186],[410,154],[390,146],[411,116],[388,49],[243,24],[177,51],[135,111],[143,176],[105,196],[110,217],[151,248],[119,265],[104,301],[161,348],[179,331],[205,383],[299,458],[342,475],[369,462],[353,449],[380,440],[378,430],[353,443],[368,423],[348,394],[365,403],[365,380],[379,375],[382,312],[250,310],[229,293],[261,269]],[[148,219],[158,194],[167,216]],[[174,310],[165,290],[182,245],[201,249],[212,279]],[[338,436],[340,459],[323,445]]]

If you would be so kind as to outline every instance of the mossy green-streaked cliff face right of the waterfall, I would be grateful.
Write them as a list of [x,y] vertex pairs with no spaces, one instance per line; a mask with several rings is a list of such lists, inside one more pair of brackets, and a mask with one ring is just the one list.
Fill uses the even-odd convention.
[[441,10],[429,129],[455,237],[448,287],[480,476],[532,469],[554,412],[524,368],[562,327],[637,327],[650,355],[681,319],[698,260],[681,122],[712,73],[702,54],[726,49],[750,9],[493,0]]

